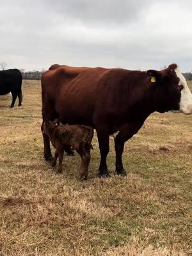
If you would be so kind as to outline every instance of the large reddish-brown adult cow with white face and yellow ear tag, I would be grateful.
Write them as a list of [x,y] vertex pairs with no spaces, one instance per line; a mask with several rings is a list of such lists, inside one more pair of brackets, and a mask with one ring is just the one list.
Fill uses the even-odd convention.
[[[53,66],[52,66],[53,67]],[[124,143],[154,111],[192,112],[192,95],[176,64],[164,70],[125,70],[54,65],[42,76],[42,116],[63,124],[84,124],[97,131],[99,175],[109,176],[106,157],[109,135],[115,138],[116,172],[122,164]],[[51,159],[49,138],[44,135],[44,156]]]

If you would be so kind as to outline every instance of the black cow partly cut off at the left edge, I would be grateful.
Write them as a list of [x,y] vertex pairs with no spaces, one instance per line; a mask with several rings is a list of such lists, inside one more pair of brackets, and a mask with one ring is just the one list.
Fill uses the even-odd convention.
[[22,75],[18,69],[8,69],[0,71],[0,95],[6,95],[12,93],[12,104],[10,108],[13,108],[17,96],[19,98],[19,105],[22,103]]

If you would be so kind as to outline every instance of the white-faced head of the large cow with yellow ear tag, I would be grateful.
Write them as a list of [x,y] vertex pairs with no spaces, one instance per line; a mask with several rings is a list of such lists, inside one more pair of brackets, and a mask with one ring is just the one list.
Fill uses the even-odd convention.
[[157,71],[148,70],[156,111],[192,114],[192,94],[176,64]]

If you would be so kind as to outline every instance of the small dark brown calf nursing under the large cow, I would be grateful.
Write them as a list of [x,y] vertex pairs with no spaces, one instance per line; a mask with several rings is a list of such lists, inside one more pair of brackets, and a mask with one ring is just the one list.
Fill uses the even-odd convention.
[[58,125],[45,120],[43,133],[49,136],[52,145],[56,148],[52,166],[56,166],[59,157],[58,173],[62,172],[63,152],[65,146],[72,146],[81,156],[81,167],[79,169],[80,179],[86,179],[90,163],[90,149],[92,148],[93,128],[86,125]]

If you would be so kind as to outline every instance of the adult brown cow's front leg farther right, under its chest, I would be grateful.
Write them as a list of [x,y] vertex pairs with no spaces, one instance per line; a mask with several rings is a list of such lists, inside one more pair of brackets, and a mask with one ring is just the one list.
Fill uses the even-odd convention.
[[115,154],[116,154],[116,163],[115,170],[118,175],[126,176],[124,166],[122,163],[122,154],[124,152],[124,141],[115,138]]

